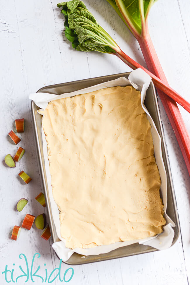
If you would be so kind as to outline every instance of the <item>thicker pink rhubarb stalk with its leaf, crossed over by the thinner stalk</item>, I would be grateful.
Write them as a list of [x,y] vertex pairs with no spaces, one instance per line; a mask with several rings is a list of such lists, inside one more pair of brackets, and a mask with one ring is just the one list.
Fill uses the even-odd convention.
[[[107,1],[115,9],[120,18],[138,40],[149,71],[156,75],[156,77],[160,78],[160,80],[165,83],[166,87],[169,87],[148,31],[148,13],[155,0]],[[117,55],[120,58],[123,57],[121,54]],[[167,97],[165,95],[167,92],[165,92],[165,90],[163,90],[160,86],[156,85],[156,87],[158,87],[158,95],[162,101],[168,119],[170,120],[190,175],[190,138],[182,119],[182,115],[180,114],[180,111],[175,102],[177,100],[173,98],[175,100],[174,101],[171,98]]]

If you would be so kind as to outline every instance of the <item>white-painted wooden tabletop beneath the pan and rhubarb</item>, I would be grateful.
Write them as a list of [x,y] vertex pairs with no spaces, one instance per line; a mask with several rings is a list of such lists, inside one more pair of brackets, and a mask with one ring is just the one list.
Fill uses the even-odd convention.
[[[74,51],[63,37],[63,16],[56,8],[57,0],[1,1],[0,12],[0,125],[1,125],[1,259],[0,284],[4,279],[5,265],[14,268],[13,278],[21,274],[19,265],[27,256],[29,265],[34,253],[35,268],[45,276],[45,266],[50,273],[59,266],[51,248],[52,240],[40,237],[35,226],[22,230],[17,242],[10,239],[14,225],[21,225],[26,213],[38,215],[44,208],[34,199],[42,190],[34,147],[29,93],[50,84],[80,80],[101,75],[130,71],[122,61],[111,55]],[[146,66],[139,45],[105,0],[84,0],[98,22],[132,58]],[[159,0],[151,9],[149,29],[165,75],[177,92],[189,100],[190,76],[190,2],[189,0]],[[159,102],[160,103],[160,102]],[[181,107],[182,116],[190,133],[190,116]],[[98,262],[74,267],[74,276],[68,284],[188,284],[190,278],[190,179],[176,138],[160,104],[168,156],[177,199],[181,234],[171,248],[155,253]],[[14,155],[7,133],[17,118],[26,119],[25,133],[19,146],[26,153],[16,168],[5,166],[6,154]],[[26,185],[17,174],[26,171],[33,180]],[[27,198],[23,212],[15,210],[20,198]],[[15,265],[13,266],[13,263]],[[70,266],[62,264],[62,272]],[[9,275],[8,275],[9,276]],[[9,279],[9,278],[8,278]],[[20,281],[19,281],[20,280]],[[18,279],[24,284],[25,279]],[[34,277],[34,284],[42,280]],[[12,282],[10,283],[12,284]],[[28,284],[33,284],[30,280]],[[56,281],[53,284],[64,284]]]

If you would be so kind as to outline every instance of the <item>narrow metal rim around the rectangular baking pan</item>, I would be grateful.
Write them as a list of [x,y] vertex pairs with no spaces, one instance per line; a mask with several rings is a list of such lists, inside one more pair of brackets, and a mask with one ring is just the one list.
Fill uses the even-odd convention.
[[[105,82],[105,81],[113,80],[113,79],[115,79],[115,77],[124,76],[124,77],[128,78],[129,74],[130,74],[130,72],[127,72],[127,73],[106,75],[106,76],[95,77],[95,78],[87,78],[87,79],[84,79],[84,80],[76,80],[76,81],[71,81],[71,82],[67,82],[67,83],[55,84],[55,85],[48,85],[48,86],[40,88],[37,92],[43,92],[44,89],[55,89],[57,87],[64,87],[66,85],[72,85],[72,84],[77,84],[77,83],[83,83],[84,84],[86,82],[92,82],[92,84],[91,84],[91,86],[92,86],[92,85],[95,85],[93,83],[95,80],[99,80],[100,81],[99,83],[101,83],[103,81]],[[96,83],[96,84],[98,84],[98,83]],[[152,88],[153,95],[156,96],[155,88],[154,88],[154,85],[153,85],[152,82],[151,82],[150,86]],[[82,89],[82,88],[77,88],[77,89]],[[45,91],[45,92],[47,92],[47,91]],[[54,93],[54,92],[51,91],[51,93]],[[158,111],[159,110],[159,106],[158,106],[158,101],[157,100],[155,100],[155,104],[156,104],[156,109]],[[39,142],[39,136],[38,136],[38,133],[37,133],[37,122],[36,122],[36,116],[35,116],[35,103],[33,101],[31,102],[31,109],[32,109],[32,120],[33,120],[33,123],[34,123],[34,137],[35,137],[35,141],[36,141],[37,154],[38,154],[39,172],[41,174],[40,175],[41,182],[42,182],[42,185],[43,185],[43,188],[44,188],[44,194],[45,194],[45,198],[46,198],[46,207],[47,207],[47,211],[48,211],[48,214],[49,214],[49,224],[50,224],[52,239],[53,239],[53,243],[54,243],[54,242],[56,242],[57,234],[56,234],[56,232],[54,232],[54,229],[53,229],[54,228],[54,223],[53,223],[53,217],[52,217],[52,213],[51,213],[51,206],[49,204],[49,199],[48,199],[49,198],[48,190],[47,190],[47,187],[46,187],[46,173],[43,170],[42,155],[41,155],[40,146],[39,146],[40,142]],[[178,217],[178,212],[177,212],[177,205],[176,205],[175,192],[174,192],[173,183],[172,183],[172,176],[171,176],[171,171],[170,171],[170,166],[169,166],[169,160],[168,160],[168,157],[166,155],[167,154],[167,149],[166,149],[165,138],[164,138],[162,123],[161,123],[161,118],[160,118],[160,112],[158,114],[158,121],[159,121],[159,125],[160,125],[160,133],[161,133],[161,138],[162,138],[162,149],[163,149],[163,151],[165,153],[165,160],[166,160],[166,165],[165,166],[166,166],[166,170],[167,170],[167,177],[168,177],[169,183],[170,183],[170,190],[171,190],[170,194],[172,196],[172,203],[173,203],[173,206],[174,206],[174,213],[175,213],[175,224],[176,224],[175,229],[176,229],[176,231],[175,231],[174,239],[172,241],[172,245],[173,245],[177,241],[177,239],[179,237],[179,233],[180,233],[180,230],[179,230],[179,228],[180,228],[180,226],[179,226],[179,217]],[[127,245],[125,247],[129,247],[129,246],[130,245]],[[125,249],[125,247],[122,247],[122,249]],[[116,251],[116,250],[113,250],[113,251]],[[94,257],[96,257],[96,258],[94,258],[94,260],[81,260],[81,262],[72,263],[72,262],[69,262],[69,260],[70,260],[69,259],[68,261],[64,261],[64,262],[66,264],[68,264],[68,265],[72,265],[73,266],[73,265],[86,264],[86,263],[89,263],[89,262],[98,262],[98,261],[103,261],[103,260],[108,260],[108,259],[127,257],[127,256],[131,256],[131,255],[137,255],[137,254],[141,254],[141,253],[148,253],[148,252],[154,252],[154,251],[157,251],[157,249],[153,248],[151,246],[148,246],[148,248],[145,249],[145,250],[141,250],[140,252],[130,253],[129,255],[124,254],[124,255],[119,255],[119,256],[110,256],[109,258],[106,258],[106,254],[101,254],[101,258],[98,258],[98,255],[97,256],[93,255]],[[75,253],[75,254],[79,255],[77,253]],[[105,258],[103,257],[103,255],[105,255]],[[88,256],[88,257],[91,257],[91,256]]]

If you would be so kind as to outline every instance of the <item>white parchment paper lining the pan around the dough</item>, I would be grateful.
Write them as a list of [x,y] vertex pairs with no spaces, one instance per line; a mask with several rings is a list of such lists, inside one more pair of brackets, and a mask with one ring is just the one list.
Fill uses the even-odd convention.
[[158,166],[159,172],[160,172],[160,178],[161,178],[161,188],[160,191],[162,193],[163,197],[163,205],[164,205],[164,212],[165,212],[165,219],[166,224],[163,226],[163,232],[157,236],[141,239],[141,240],[133,240],[133,241],[123,241],[123,242],[117,242],[110,245],[100,245],[96,246],[94,248],[75,248],[70,249],[65,247],[65,240],[61,237],[60,234],[60,221],[59,221],[59,210],[58,207],[53,199],[52,195],[52,187],[51,187],[51,175],[49,172],[49,160],[47,155],[47,142],[45,139],[45,134],[42,128],[42,139],[43,139],[43,152],[44,152],[44,160],[45,160],[45,169],[46,169],[46,176],[47,176],[47,182],[48,182],[48,190],[49,190],[49,198],[50,198],[50,204],[51,204],[51,210],[53,215],[53,222],[56,226],[56,232],[58,237],[61,241],[58,241],[56,243],[53,243],[52,247],[57,253],[58,257],[62,260],[68,260],[69,257],[74,253],[79,253],[82,255],[98,255],[100,253],[108,253],[111,250],[114,250],[116,248],[130,245],[133,243],[141,243],[144,245],[150,245],[157,249],[166,249],[169,248],[172,244],[173,237],[174,237],[174,230],[172,229],[173,226],[175,226],[174,222],[168,217],[166,214],[166,206],[167,206],[167,180],[166,180],[166,171],[163,163],[162,158],[162,150],[161,150],[161,138],[158,134],[158,131],[156,129],[156,126],[148,113],[148,110],[144,106],[144,99],[146,96],[146,90],[148,89],[148,86],[151,82],[151,77],[145,73],[142,69],[138,68],[134,71],[132,71],[129,75],[129,80],[127,80],[125,77],[120,77],[118,79],[108,81],[106,83],[101,83],[98,85],[91,86],[89,88],[81,89],[75,92],[71,93],[65,93],[62,95],[55,95],[55,94],[49,94],[49,93],[33,93],[30,94],[30,99],[35,102],[37,106],[40,108],[45,109],[48,105],[48,102],[52,100],[58,100],[65,97],[72,97],[75,95],[79,95],[82,93],[88,93],[92,91],[96,91],[102,88],[107,87],[113,87],[113,86],[126,86],[126,85],[132,85],[135,89],[138,89],[141,91],[141,104],[144,109],[144,111],[147,114],[148,121],[151,124],[151,132],[153,137],[153,143],[154,143],[154,155],[156,158],[156,164]]

